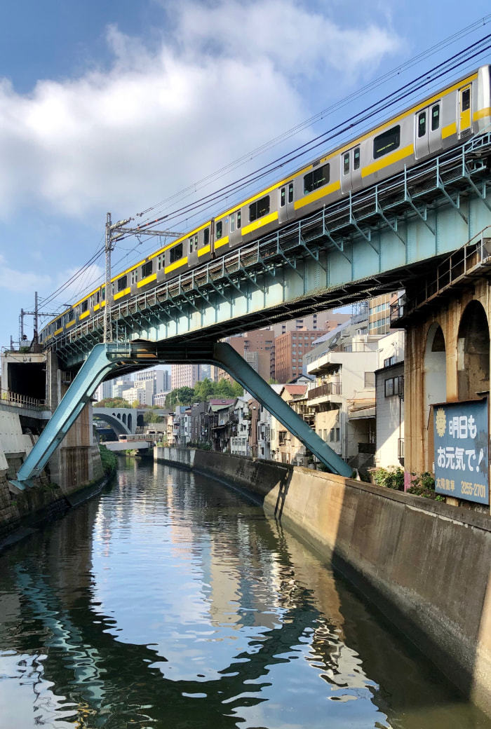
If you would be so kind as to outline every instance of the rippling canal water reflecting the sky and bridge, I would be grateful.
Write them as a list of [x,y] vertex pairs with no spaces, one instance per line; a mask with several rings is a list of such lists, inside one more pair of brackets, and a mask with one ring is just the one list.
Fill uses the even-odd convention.
[[260,506],[120,464],[0,555],[1,729],[491,728]]

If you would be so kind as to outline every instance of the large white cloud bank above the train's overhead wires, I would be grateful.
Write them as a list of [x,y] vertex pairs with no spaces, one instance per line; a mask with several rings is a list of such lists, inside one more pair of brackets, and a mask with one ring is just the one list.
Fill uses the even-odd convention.
[[293,0],[172,7],[172,37],[152,52],[108,29],[109,71],[30,95],[0,80],[4,218],[26,201],[74,217],[146,208],[304,120],[336,79],[363,77],[398,45]]

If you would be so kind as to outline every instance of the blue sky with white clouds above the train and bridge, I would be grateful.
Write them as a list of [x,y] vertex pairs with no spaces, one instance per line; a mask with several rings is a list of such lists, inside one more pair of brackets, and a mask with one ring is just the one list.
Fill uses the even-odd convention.
[[[173,211],[179,190],[489,12],[487,1],[471,7],[463,17],[461,4],[441,0],[4,0],[0,344],[18,338],[20,308],[33,308],[35,290],[48,297],[101,246],[107,211],[113,219]],[[293,149],[490,26],[184,199]],[[198,219],[169,227],[189,230]],[[124,241],[115,271],[152,246]],[[99,259],[45,309],[74,300],[102,268]]]

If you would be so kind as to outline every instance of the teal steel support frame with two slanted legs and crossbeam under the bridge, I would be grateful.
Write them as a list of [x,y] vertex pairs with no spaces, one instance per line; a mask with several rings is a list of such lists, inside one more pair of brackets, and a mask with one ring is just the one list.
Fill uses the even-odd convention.
[[120,367],[149,367],[169,362],[208,363],[225,370],[257,399],[266,410],[298,437],[330,472],[350,476],[352,469],[329,448],[322,438],[287,405],[263,378],[227,343],[116,343],[97,344],[78,371],[53,417],[39,436],[39,440],[19,469],[12,483],[24,489],[33,485],[50,457],[60,445],[69,429],[90,400],[96,387]]

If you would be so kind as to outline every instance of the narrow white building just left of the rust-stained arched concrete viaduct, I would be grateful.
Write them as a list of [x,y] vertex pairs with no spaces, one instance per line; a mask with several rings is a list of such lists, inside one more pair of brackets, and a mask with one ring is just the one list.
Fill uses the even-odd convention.
[[404,332],[396,330],[379,340],[379,369],[375,372],[375,465],[404,464]]

